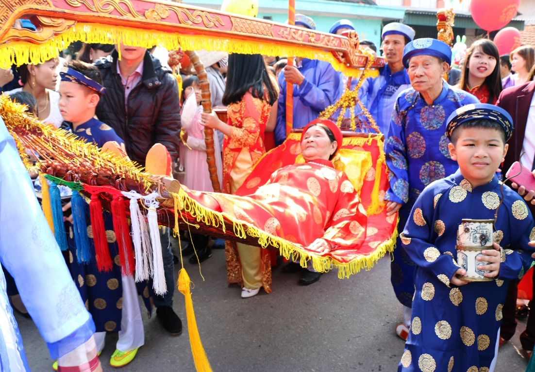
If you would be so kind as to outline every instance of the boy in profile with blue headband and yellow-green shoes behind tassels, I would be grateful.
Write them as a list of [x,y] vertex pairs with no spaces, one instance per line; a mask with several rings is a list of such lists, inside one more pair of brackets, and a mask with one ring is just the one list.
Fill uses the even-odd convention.
[[[87,142],[95,143],[99,148],[102,148],[104,143],[113,141],[125,150],[123,139],[110,126],[95,117],[96,106],[105,93],[100,71],[93,65],[72,60],[65,64],[60,76],[59,110],[63,119],[71,123],[73,133],[86,139]],[[66,205],[64,210],[67,208],[70,208],[70,204]],[[89,207],[86,208],[86,212],[89,216]],[[111,215],[104,213],[106,236],[108,233],[112,235]],[[91,250],[94,252],[93,239],[90,239],[90,242]],[[134,359],[137,350],[144,344],[143,321],[137,292],[138,289],[140,292],[146,291],[147,283],[139,283],[139,288],[136,288],[132,276],[121,275],[119,260],[114,261],[109,272],[98,271],[94,257],[89,262],[82,261],[77,256],[77,247],[72,236],[68,239],[68,246],[72,257],[69,265],[71,275],[95,322],[97,351],[100,354],[104,348],[106,332],[118,331],[117,349],[111,355],[110,365],[123,367]],[[119,250],[114,238],[109,238],[108,247],[111,257],[116,257]],[[150,312],[148,292],[143,300]],[[56,364],[52,366],[56,369],[55,367]]]

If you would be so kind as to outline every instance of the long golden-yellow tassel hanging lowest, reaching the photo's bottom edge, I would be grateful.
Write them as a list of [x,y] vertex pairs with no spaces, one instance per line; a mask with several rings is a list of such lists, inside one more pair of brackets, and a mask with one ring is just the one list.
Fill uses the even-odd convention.
[[201,336],[197,329],[197,321],[193,311],[192,292],[190,291],[191,281],[185,268],[181,268],[178,273],[178,290],[184,294],[186,299],[186,317],[188,319],[189,344],[192,347],[193,362],[197,372],[211,372],[210,362],[202,346]]

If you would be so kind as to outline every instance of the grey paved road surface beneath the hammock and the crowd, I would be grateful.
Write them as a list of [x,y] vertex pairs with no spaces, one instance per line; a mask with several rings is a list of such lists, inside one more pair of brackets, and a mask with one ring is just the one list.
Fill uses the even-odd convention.
[[[396,371],[403,341],[395,336],[401,305],[389,282],[389,260],[369,272],[339,280],[335,272],[310,286],[297,284],[299,274],[273,270],[273,292],[240,298],[236,285],[227,286],[221,250],[198,266],[185,263],[195,284],[193,301],[198,329],[215,372]],[[175,266],[177,270],[180,265]],[[184,296],[175,291],[174,309],[185,321]],[[51,371],[51,360],[31,320],[17,317],[33,371]],[[187,325],[181,336],[166,334],[156,316],[144,315],[145,345],[121,369],[133,371],[195,371]],[[518,335],[502,347],[495,372],[524,372],[527,361],[518,353]],[[117,334],[109,334],[101,361],[104,371]],[[442,372],[442,371],[437,371]],[[464,372],[464,371],[463,371]]]

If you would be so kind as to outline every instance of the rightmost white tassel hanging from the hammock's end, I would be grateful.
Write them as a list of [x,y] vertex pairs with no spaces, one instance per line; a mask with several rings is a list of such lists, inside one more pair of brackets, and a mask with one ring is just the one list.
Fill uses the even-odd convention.
[[149,221],[150,241],[152,243],[153,288],[156,294],[164,294],[167,292],[167,285],[165,284],[162,243],[160,242],[158,216],[156,214],[159,203],[156,201],[156,197],[158,196],[157,193],[156,196],[151,197],[154,194],[155,193],[153,192],[150,196],[144,197],[144,201],[149,210],[147,213],[147,220]]

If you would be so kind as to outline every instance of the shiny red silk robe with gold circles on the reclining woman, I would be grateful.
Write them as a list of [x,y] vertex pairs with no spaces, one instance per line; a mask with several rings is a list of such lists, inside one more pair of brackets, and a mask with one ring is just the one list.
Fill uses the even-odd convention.
[[[259,182],[257,179],[248,182]],[[269,181],[248,196],[190,191],[201,205],[301,246],[324,238],[333,246],[327,255],[342,262],[366,238],[366,211],[345,173],[332,162],[314,160],[274,172]]]

